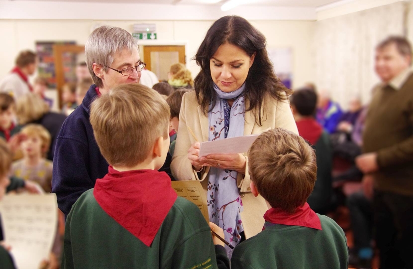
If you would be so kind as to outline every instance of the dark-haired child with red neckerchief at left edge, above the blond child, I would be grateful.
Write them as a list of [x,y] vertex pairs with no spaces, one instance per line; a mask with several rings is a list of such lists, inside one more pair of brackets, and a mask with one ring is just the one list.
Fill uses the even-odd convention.
[[14,98],[6,93],[0,93],[0,137],[6,141],[20,132],[21,126],[16,126],[13,121],[16,118],[16,104]]

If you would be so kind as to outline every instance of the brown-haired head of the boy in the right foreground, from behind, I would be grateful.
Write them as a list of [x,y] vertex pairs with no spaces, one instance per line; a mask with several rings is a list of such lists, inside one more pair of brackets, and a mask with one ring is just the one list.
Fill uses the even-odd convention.
[[284,129],[267,131],[248,153],[251,191],[273,208],[294,213],[303,206],[317,178],[315,152],[301,136]]

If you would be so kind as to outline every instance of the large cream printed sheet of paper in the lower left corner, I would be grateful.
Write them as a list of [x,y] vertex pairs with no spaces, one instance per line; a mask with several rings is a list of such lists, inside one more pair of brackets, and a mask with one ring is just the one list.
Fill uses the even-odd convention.
[[48,260],[57,229],[56,194],[6,195],[0,202],[4,241],[17,269],[38,269]]

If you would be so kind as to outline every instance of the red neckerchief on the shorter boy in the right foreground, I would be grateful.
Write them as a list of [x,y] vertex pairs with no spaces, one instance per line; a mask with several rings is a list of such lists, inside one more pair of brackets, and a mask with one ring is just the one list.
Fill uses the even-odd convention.
[[308,203],[302,207],[298,207],[293,214],[289,214],[279,208],[271,208],[265,212],[264,219],[273,224],[302,226],[322,230],[320,219],[317,214],[310,209]]

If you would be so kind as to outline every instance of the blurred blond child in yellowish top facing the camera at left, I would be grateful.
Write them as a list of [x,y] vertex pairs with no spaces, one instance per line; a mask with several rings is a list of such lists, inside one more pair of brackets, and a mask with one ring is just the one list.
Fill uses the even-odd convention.
[[11,166],[11,175],[38,183],[48,193],[52,188],[53,162],[45,158],[50,146],[50,134],[37,124],[21,129],[26,139],[21,142],[23,159]]

